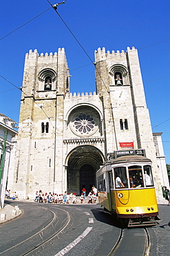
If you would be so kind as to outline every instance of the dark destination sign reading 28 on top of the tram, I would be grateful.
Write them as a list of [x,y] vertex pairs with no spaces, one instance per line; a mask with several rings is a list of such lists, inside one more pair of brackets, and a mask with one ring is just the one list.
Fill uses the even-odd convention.
[[120,156],[146,156],[145,149],[124,149],[124,150],[115,150],[114,153],[108,154],[109,160],[118,158]]

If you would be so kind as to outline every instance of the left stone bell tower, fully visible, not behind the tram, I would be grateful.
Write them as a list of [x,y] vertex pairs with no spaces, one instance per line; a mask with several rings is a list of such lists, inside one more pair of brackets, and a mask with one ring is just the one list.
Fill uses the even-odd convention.
[[62,186],[62,174],[56,172],[56,167],[62,165],[59,156],[63,142],[64,99],[70,91],[64,48],[59,48],[54,55],[39,55],[36,50],[30,50],[25,55],[21,91],[12,189],[27,199],[40,185],[41,190],[47,192]]

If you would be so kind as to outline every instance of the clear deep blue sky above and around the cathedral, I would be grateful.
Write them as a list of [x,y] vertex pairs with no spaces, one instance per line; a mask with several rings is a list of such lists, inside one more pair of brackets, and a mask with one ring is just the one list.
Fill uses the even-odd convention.
[[[60,1],[50,0],[52,4]],[[64,47],[72,75],[70,91],[95,91],[94,65],[59,15],[48,8],[47,0],[1,0],[0,75],[20,87],[25,53],[35,48],[39,54],[54,53]],[[92,60],[98,47],[105,47],[106,51],[126,51],[127,46],[138,49],[151,125],[153,132],[163,133],[168,164],[169,10],[167,0],[67,0],[57,9]],[[37,15],[40,16],[19,28]],[[16,31],[11,33],[13,30]],[[19,122],[21,91],[6,80],[0,77],[0,113]]]

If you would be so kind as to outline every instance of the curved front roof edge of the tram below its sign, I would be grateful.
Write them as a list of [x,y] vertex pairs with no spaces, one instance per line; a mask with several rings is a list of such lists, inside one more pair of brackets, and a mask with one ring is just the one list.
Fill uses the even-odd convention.
[[111,159],[111,163],[130,163],[130,162],[151,162],[151,159],[146,156],[120,156],[116,159]]

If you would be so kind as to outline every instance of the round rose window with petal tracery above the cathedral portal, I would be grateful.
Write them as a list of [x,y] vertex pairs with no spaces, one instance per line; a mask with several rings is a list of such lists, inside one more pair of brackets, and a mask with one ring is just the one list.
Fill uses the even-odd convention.
[[94,134],[98,129],[96,116],[91,113],[77,113],[72,119],[71,129],[81,136]]

